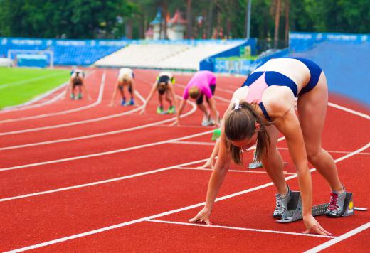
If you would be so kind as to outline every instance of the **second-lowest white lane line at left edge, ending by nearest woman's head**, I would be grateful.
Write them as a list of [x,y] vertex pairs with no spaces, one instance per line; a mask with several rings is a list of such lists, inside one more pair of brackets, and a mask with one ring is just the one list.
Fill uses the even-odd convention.
[[149,146],[157,146],[157,145],[161,145],[161,144],[168,144],[171,141],[179,141],[179,140],[182,140],[182,139],[194,138],[196,136],[211,134],[212,132],[213,132],[213,130],[204,131],[204,132],[201,132],[199,134],[191,134],[189,136],[179,137],[179,138],[176,138],[176,139],[169,139],[169,140],[166,140],[166,141],[157,141],[157,142],[152,142],[150,144],[142,144],[142,145],[132,146],[132,147],[125,148],[125,149],[115,149],[115,150],[111,150],[111,151],[89,154],[89,155],[85,155],[85,156],[73,156],[73,157],[68,157],[68,158],[63,158],[63,159],[58,159],[58,160],[43,161],[43,162],[40,162],[40,163],[29,163],[29,164],[25,164],[25,165],[21,165],[21,166],[0,168],[0,171],[11,171],[11,170],[19,169],[19,168],[29,168],[29,167],[34,167],[34,166],[46,165],[46,164],[61,163],[61,162],[64,162],[64,161],[74,161],[74,160],[80,160],[80,159],[96,157],[96,156],[106,156],[106,155],[110,155],[110,154],[116,154],[116,153],[121,153],[121,152],[125,152],[125,151],[131,151],[131,150],[134,150],[134,149],[147,148]]

